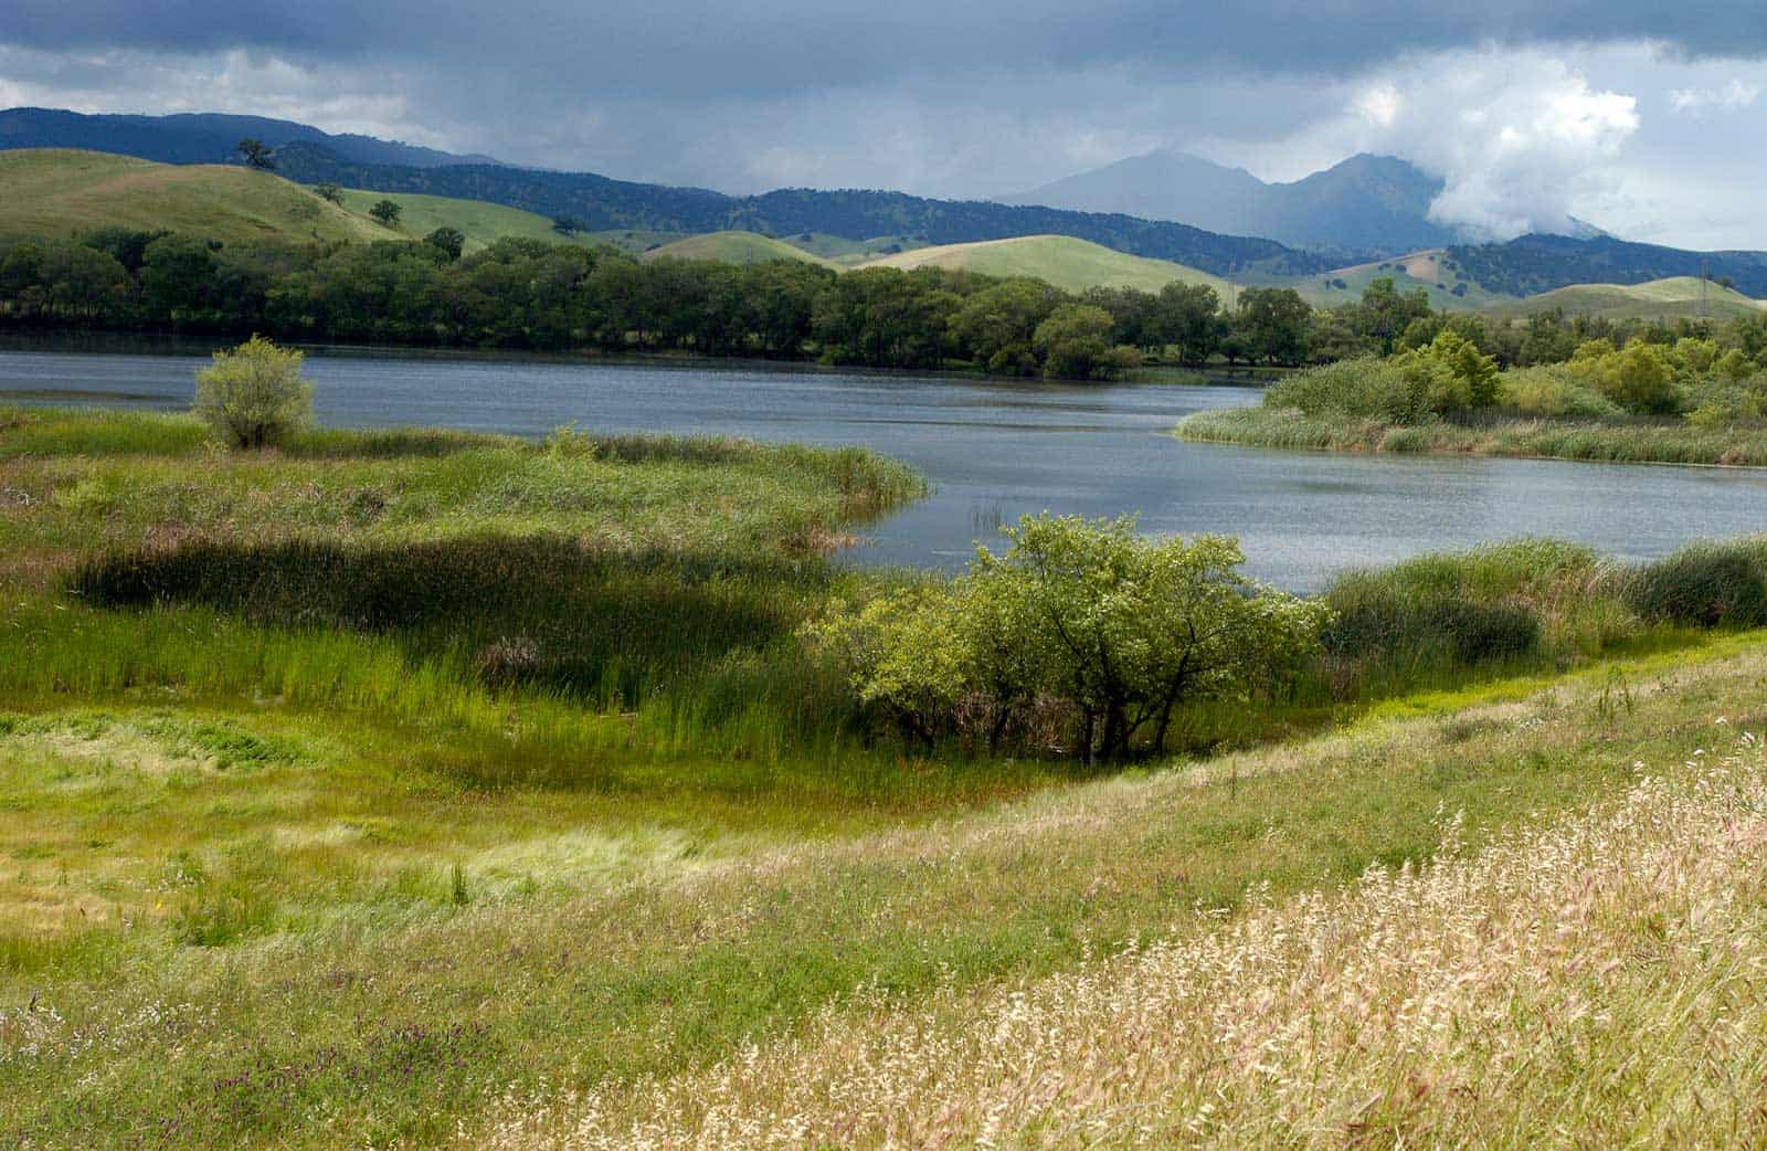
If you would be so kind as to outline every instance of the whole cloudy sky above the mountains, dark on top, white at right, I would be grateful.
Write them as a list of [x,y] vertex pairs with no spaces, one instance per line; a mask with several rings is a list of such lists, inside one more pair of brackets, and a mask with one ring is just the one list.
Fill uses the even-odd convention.
[[1763,248],[1762,0],[0,0],[0,108],[235,111],[728,193],[1355,152],[1505,239]]

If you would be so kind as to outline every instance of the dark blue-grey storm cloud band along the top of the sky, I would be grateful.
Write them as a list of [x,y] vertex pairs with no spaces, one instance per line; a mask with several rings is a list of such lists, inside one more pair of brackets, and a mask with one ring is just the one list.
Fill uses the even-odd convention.
[[1127,65],[1184,74],[1240,65],[1339,74],[1410,50],[1627,39],[1696,57],[1767,55],[1767,9],[1760,0],[0,2],[0,42],[49,51],[260,48],[304,62],[406,58],[470,72],[507,69],[539,88],[664,90],[682,99],[963,69]]

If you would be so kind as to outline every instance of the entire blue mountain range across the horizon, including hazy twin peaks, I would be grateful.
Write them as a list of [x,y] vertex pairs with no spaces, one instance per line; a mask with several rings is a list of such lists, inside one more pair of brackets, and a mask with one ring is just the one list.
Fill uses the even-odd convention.
[[[330,134],[260,117],[0,111],[0,150],[53,147],[177,164],[235,163],[240,136],[272,145],[277,172],[304,184],[336,180],[368,191],[484,200],[546,217],[571,217],[588,232],[701,235],[735,230],[848,240],[901,237],[919,244],[1067,235],[1256,283],[1318,278],[1399,253],[1444,248],[1465,278],[1502,295],[1521,297],[1578,283],[1636,285],[1698,276],[1705,267],[1751,297],[1767,297],[1767,253],[1627,244],[1599,230],[1583,237],[1525,235],[1507,244],[1463,242],[1428,219],[1440,182],[1405,161],[1380,156],[1355,156],[1293,184],[1265,184],[1248,172],[1193,156],[1154,154],[1014,196],[1057,198],[1073,207],[928,200],[873,189],[788,187],[728,196],[587,172],[518,168],[484,156]],[[1191,219],[1170,219],[1180,210]]]

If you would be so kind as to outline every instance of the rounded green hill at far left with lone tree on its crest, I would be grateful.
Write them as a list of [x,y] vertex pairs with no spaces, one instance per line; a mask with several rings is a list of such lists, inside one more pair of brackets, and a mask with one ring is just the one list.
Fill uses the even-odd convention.
[[0,235],[170,228],[217,240],[368,240],[373,219],[274,173],[62,149],[0,152]]

